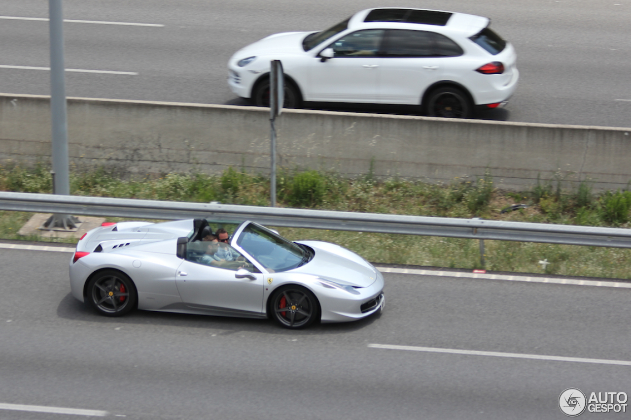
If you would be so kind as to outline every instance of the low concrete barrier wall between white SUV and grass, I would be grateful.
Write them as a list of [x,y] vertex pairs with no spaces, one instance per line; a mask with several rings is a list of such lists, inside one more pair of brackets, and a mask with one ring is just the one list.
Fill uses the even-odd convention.
[[[278,165],[355,177],[451,182],[488,170],[523,189],[582,180],[595,189],[631,180],[631,129],[285,110],[276,120]],[[269,170],[266,108],[68,98],[71,165],[123,176]],[[0,94],[0,159],[50,161],[48,96]]]

